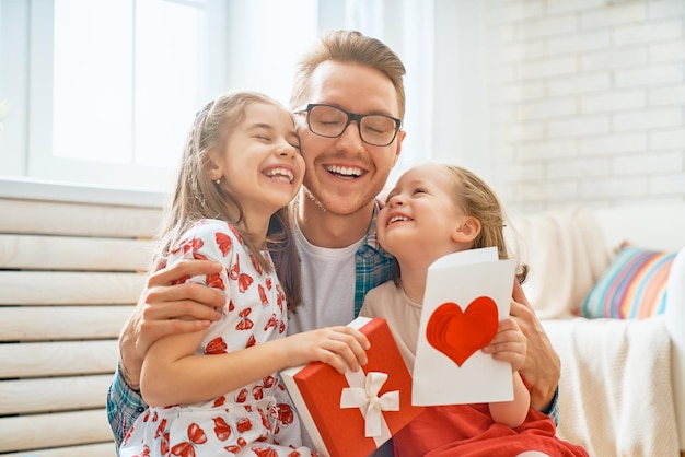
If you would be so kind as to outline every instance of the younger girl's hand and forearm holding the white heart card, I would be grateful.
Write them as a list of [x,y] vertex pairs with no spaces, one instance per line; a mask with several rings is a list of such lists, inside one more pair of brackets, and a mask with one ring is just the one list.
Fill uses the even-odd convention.
[[516,321],[508,318],[500,323],[491,345],[496,360],[511,364],[514,398],[511,401],[491,402],[490,414],[495,422],[516,427],[523,423],[531,407],[531,394],[519,375],[519,370],[525,361],[525,336]]

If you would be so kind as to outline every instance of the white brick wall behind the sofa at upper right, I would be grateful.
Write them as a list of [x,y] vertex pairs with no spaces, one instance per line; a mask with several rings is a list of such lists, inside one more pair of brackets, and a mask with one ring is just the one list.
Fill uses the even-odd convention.
[[685,0],[485,3],[509,211],[685,200]]

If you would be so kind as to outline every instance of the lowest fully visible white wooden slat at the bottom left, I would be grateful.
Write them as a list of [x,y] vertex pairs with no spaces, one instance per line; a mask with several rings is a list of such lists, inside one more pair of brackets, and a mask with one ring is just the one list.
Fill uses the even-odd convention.
[[113,440],[105,409],[10,415],[0,418],[0,453],[106,443]]

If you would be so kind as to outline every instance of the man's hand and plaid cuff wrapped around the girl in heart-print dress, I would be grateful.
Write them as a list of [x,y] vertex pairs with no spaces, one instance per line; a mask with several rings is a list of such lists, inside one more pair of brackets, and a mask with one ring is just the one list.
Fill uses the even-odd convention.
[[221,317],[216,310],[224,298],[197,283],[176,282],[185,277],[211,274],[221,265],[183,260],[148,277],[133,313],[119,337],[119,365],[107,392],[107,417],[118,444],[147,406],[140,397],[140,368],[150,345],[162,337],[204,330]]

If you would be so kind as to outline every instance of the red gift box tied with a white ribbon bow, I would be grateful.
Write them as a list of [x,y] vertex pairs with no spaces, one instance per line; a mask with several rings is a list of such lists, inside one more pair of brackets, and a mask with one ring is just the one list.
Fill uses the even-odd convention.
[[371,341],[363,372],[339,374],[321,362],[281,372],[322,456],[368,456],[423,410],[411,406],[411,375],[385,319],[359,317],[349,326]]

